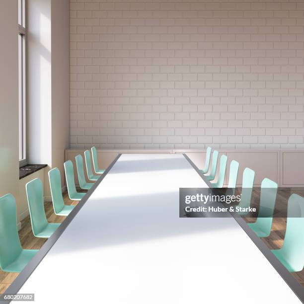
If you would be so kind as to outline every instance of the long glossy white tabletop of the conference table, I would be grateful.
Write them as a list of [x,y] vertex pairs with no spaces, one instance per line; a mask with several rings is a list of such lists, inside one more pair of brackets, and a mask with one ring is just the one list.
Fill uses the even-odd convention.
[[208,187],[183,154],[120,155],[8,292],[19,284],[39,304],[302,303],[234,218],[179,218],[180,187]]

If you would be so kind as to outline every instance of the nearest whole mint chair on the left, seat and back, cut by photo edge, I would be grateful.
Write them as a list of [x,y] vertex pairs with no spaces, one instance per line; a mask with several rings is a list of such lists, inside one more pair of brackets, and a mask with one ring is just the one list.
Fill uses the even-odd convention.
[[17,230],[16,200],[11,194],[0,197],[0,267],[21,272],[38,250],[22,249]]

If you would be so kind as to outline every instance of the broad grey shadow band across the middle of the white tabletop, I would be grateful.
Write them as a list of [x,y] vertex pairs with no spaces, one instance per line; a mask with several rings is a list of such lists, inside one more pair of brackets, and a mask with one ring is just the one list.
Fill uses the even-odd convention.
[[100,200],[91,198],[58,239],[52,253],[188,233],[220,233],[222,229],[238,227],[231,218],[179,218],[178,200],[178,193],[168,192]]

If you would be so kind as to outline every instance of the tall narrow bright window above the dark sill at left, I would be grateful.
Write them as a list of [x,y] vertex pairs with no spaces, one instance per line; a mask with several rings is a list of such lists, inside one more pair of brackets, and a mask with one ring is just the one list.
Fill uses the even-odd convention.
[[25,1],[18,0],[18,56],[19,56],[19,164],[27,164],[26,153],[26,28]]

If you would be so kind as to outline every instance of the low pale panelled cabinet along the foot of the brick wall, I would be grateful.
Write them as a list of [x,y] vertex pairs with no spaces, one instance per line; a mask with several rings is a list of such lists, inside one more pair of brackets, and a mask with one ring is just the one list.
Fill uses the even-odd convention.
[[[83,149],[66,150],[66,160],[75,163],[77,154],[83,155]],[[202,169],[205,165],[205,150],[102,150],[98,149],[99,167],[106,169],[119,153],[186,153],[194,164]],[[254,186],[260,186],[264,178],[270,178],[278,183],[279,187],[304,187],[304,151],[270,151],[270,150],[223,150],[219,149],[217,176],[220,157],[228,156],[225,185],[228,184],[229,166],[231,160],[239,162],[237,185],[241,186],[242,174],[245,167],[255,171]],[[212,164],[212,161],[211,161]],[[77,183],[77,181],[76,181]]]

